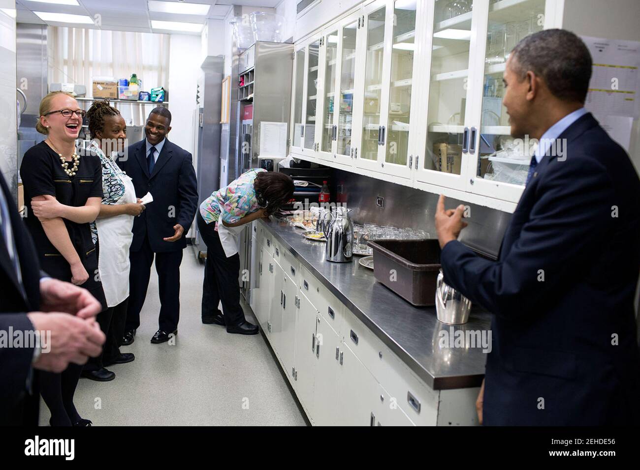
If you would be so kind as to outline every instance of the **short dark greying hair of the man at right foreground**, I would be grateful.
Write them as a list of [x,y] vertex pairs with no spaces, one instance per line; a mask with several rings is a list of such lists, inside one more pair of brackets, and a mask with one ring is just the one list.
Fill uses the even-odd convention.
[[531,70],[542,77],[554,97],[584,103],[591,78],[591,54],[584,42],[565,29],[545,29],[513,48],[513,70],[522,81]]

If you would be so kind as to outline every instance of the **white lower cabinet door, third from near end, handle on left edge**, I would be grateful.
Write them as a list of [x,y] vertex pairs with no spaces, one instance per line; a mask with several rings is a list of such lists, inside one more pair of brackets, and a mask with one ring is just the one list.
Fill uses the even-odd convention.
[[318,426],[339,424],[336,413],[339,347],[340,336],[323,315],[317,315],[314,424]]

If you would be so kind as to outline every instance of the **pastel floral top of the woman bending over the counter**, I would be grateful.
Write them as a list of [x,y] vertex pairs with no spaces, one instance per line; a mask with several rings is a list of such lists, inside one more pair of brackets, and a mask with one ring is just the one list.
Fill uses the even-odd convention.
[[266,171],[266,169],[250,169],[230,182],[227,187],[214,191],[209,198],[202,201],[200,215],[204,221],[207,224],[216,222],[216,230],[218,230],[217,222],[220,220],[220,215],[226,223],[234,224],[244,215],[258,210],[260,205],[255,198],[253,182],[260,171]]

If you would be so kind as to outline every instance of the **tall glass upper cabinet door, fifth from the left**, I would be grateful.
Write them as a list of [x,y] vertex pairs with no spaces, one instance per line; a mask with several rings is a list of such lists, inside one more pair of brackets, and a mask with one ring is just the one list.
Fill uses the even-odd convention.
[[[383,65],[385,64],[385,27],[387,26],[386,2],[369,4],[364,11],[364,83],[362,84],[362,136],[358,146],[356,164],[363,168],[380,171],[378,155],[382,137],[382,111],[386,107],[383,100]],[[362,17],[361,17],[362,18]],[[361,81],[362,83],[362,81]],[[386,93],[384,93],[386,94]]]

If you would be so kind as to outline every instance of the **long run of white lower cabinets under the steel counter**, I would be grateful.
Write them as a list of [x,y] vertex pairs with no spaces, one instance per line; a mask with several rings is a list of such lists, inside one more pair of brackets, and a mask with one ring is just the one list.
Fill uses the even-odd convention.
[[429,388],[271,233],[258,244],[252,308],[312,424],[477,424],[477,389]]

